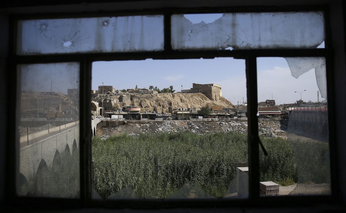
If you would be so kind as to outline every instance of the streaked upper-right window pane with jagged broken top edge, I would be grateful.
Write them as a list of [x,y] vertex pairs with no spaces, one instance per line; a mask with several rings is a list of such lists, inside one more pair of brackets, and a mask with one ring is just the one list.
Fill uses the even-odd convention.
[[325,39],[322,12],[224,13],[195,24],[204,14],[196,16],[172,15],[173,49],[317,48]]

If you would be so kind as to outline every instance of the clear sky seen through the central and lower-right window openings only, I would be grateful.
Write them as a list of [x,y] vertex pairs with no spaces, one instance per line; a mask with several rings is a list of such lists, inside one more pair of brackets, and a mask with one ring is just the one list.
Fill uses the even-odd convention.
[[[236,104],[246,101],[245,60],[233,58],[186,59],[94,62],[92,89],[99,85],[112,85],[116,89],[160,89],[173,85],[176,91],[190,89],[192,83],[216,83],[222,86],[222,95]],[[258,101],[273,98],[276,103],[293,103],[303,91],[305,101],[317,101],[315,70],[302,74],[298,79],[291,75],[284,58],[258,58]],[[321,98],[321,97],[320,97]],[[321,99],[320,99],[321,100]]]

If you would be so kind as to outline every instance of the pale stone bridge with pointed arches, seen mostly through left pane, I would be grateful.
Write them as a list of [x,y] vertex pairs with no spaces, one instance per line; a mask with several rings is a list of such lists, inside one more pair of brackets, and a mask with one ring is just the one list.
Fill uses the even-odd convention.
[[[96,126],[100,122],[101,119],[91,121],[93,135],[95,135]],[[27,141],[21,141],[19,153],[20,185],[33,180],[40,169],[51,169],[54,159],[60,156],[62,152],[69,151],[72,154],[73,151],[78,150],[80,142],[79,122],[73,124],[73,126],[67,127],[64,131],[58,130],[55,135],[52,135],[52,132],[49,134],[47,130],[28,135],[29,141],[43,138],[35,141],[33,144],[26,145]],[[47,137],[44,138],[45,136]],[[21,138],[21,140],[24,139]],[[23,142],[25,146],[22,146]]]

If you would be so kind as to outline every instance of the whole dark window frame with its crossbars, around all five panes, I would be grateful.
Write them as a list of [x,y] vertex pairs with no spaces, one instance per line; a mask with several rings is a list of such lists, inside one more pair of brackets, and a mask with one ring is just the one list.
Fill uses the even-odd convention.
[[[173,14],[200,14],[200,13],[232,13],[232,12],[307,12],[322,11],[325,16],[325,48],[322,49],[246,49],[246,50],[173,50],[171,46],[171,15]],[[82,18],[82,17],[107,17],[107,16],[133,16],[133,15],[163,15],[164,16],[164,50],[148,52],[121,52],[121,53],[69,53],[49,55],[17,55],[17,21],[25,19],[57,19],[57,18]],[[7,203],[43,208],[56,207],[65,209],[71,207],[111,207],[111,208],[174,208],[174,207],[251,207],[251,206],[307,206],[314,204],[340,203],[337,183],[338,168],[335,140],[335,97],[334,97],[334,70],[331,55],[332,49],[329,42],[330,17],[328,5],[318,6],[289,6],[289,7],[227,7],[227,8],[161,8],[148,10],[126,10],[112,12],[83,12],[83,13],[51,13],[33,15],[12,15],[10,17],[10,48],[8,81],[17,79],[13,83],[16,94],[19,92],[17,84],[20,76],[17,74],[18,64],[79,62],[80,64],[80,198],[48,198],[48,197],[20,197],[16,195],[16,178],[19,173],[19,145],[9,143],[7,148]],[[249,197],[248,199],[176,199],[176,200],[93,200],[91,197],[91,118],[89,116],[91,106],[91,67],[95,61],[124,61],[152,59],[193,59],[193,58],[233,57],[245,59],[246,84],[248,100],[248,161],[249,161]],[[330,149],[330,175],[331,195],[318,196],[276,196],[260,197],[259,188],[259,136],[257,119],[257,58],[258,57],[325,57],[328,94],[328,119],[329,119],[329,149]],[[8,95],[7,101],[17,105],[15,95]],[[82,107],[86,106],[86,107]],[[16,115],[19,109],[16,109]],[[84,116],[83,116],[84,115]],[[13,141],[16,135],[16,119],[10,119],[7,141]],[[15,155],[13,155],[15,153]],[[309,204],[307,204],[309,203]]]

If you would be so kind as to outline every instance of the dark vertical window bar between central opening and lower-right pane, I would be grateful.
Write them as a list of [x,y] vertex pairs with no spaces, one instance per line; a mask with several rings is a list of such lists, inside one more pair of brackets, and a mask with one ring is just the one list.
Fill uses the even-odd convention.
[[248,118],[248,160],[249,160],[249,199],[256,200],[260,195],[258,118],[257,118],[257,62],[249,55],[245,59]]

